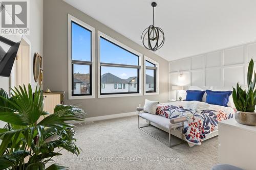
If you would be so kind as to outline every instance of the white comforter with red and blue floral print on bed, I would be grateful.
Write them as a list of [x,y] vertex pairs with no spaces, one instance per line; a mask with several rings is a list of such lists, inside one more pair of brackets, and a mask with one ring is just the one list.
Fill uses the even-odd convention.
[[206,134],[218,131],[218,122],[233,117],[234,109],[203,102],[181,101],[159,104],[156,114],[169,119],[186,116],[188,121],[183,130],[185,140],[188,144],[201,144]]

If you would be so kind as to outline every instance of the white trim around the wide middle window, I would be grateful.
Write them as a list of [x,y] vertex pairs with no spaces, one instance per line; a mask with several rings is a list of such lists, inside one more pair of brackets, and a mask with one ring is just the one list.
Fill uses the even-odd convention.
[[[101,71],[100,71],[100,37],[103,37],[104,39],[106,40],[109,40],[113,43],[115,43],[116,45],[124,48],[125,50],[127,51],[130,51],[132,53],[134,53],[135,55],[139,56],[139,68],[138,68],[138,77],[139,77],[139,87],[138,87],[138,91],[139,93],[125,93],[125,94],[122,94],[122,93],[116,93],[116,94],[100,94],[100,79],[101,79]],[[125,97],[125,96],[140,96],[140,95],[143,95],[142,94],[142,66],[143,66],[143,63],[141,62],[142,61],[142,54],[141,53],[138,53],[137,51],[133,50],[132,48],[122,44],[121,42],[115,40],[114,38],[100,32],[100,31],[97,31],[97,40],[98,40],[98,43],[97,43],[97,47],[98,47],[98,98],[115,98],[115,97]],[[103,64],[107,64],[107,63],[103,63]]]

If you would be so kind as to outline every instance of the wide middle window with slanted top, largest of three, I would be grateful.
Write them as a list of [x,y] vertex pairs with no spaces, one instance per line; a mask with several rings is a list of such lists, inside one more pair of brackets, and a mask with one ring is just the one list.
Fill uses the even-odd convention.
[[[141,55],[100,32],[98,43],[100,83],[115,84],[112,89],[100,90],[99,98],[141,94],[139,86]],[[134,83],[138,86],[133,87]]]

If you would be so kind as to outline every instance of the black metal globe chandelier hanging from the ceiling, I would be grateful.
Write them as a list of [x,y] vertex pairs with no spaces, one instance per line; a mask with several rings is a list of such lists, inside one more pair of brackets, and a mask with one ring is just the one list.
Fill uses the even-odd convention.
[[157,3],[153,2],[151,6],[153,7],[153,25],[150,25],[150,27],[142,32],[141,40],[147,50],[155,52],[164,44],[164,33],[161,28],[154,26],[154,14]]

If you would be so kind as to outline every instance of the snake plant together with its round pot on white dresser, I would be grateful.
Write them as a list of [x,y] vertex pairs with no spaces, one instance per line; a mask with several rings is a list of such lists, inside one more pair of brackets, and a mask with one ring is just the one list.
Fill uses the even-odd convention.
[[[233,87],[232,97],[234,101],[234,105],[236,106],[235,119],[238,123],[244,125],[256,126],[256,113],[255,113],[255,105],[256,105],[256,90],[255,90],[255,82],[256,82],[256,74],[253,71],[254,62],[251,59],[248,72],[247,72],[247,85],[248,90],[242,89],[237,83],[237,89]],[[254,72],[254,79],[252,80],[252,74]]]

